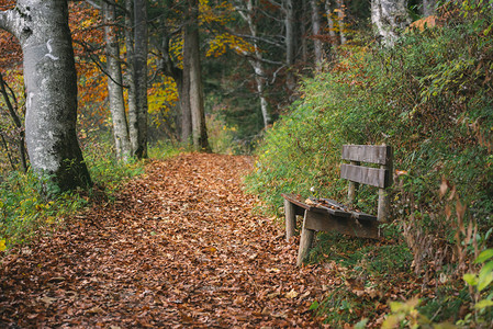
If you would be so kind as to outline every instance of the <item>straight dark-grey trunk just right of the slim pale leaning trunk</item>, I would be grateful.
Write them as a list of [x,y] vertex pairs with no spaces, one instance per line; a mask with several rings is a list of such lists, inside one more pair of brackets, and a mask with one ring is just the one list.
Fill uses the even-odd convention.
[[[145,0],[134,0],[134,81],[137,104],[134,155],[147,157],[147,8]],[[135,127],[135,123],[134,123]]]

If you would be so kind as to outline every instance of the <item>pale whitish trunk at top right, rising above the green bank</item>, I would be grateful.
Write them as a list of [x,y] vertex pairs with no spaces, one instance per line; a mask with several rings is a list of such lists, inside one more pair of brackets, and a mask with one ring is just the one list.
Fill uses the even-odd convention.
[[392,47],[399,35],[411,23],[406,0],[371,0],[371,22],[381,44]]

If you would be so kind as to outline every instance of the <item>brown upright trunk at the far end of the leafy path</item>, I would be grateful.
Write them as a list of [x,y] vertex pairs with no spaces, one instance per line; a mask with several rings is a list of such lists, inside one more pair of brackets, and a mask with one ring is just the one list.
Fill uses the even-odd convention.
[[199,2],[190,0],[190,24],[186,29],[184,38],[188,55],[190,78],[190,110],[192,117],[192,139],[197,150],[210,150],[205,126],[204,100],[202,90],[202,72],[199,44]]

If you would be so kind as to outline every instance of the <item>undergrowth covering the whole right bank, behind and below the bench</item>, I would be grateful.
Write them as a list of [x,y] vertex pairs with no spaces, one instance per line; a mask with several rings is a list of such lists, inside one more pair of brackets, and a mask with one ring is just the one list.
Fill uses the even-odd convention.
[[[421,304],[395,306],[399,317],[419,309],[429,321],[457,322],[472,307],[469,298],[459,309],[467,291],[461,277],[493,245],[493,16],[483,1],[444,1],[439,14],[438,26],[406,31],[393,48],[358,41],[340,47],[324,71],[304,79],[300,100],[267,132],[245,182],[270,213],[282,205],[281,193],[344,202],[341,146],[392,145],[395,223],[385,229],[395,232],[393,245],[322,237],[311,260],[336,261],[369,284],[383,280],[383,292],[393,273],[415,277],[415,294],[429,294]],[[359,192],[361,211],[376,213],[374,194]],[[360,296],[350,293],[336,291],[320,302],[335,317],[332,325],[357,318],[349,315]],[[403,297],[414,300],[411,294],[393,299]],[[333,313],[341,308],[348,318]]]

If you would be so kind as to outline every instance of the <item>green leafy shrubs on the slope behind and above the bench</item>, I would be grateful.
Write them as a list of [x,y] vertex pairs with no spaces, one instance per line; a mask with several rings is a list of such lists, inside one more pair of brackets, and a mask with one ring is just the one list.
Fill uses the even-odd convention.
[[[485,230],[493,213],[491,20],[471,25],[460,11],[448,15],[445,26],[408,31],[393,48],[339,49],[333,66],[305,79],[300,101],[259,145],[248,190],[271,211],[281,193],[309,196],[312,188],[344,201],[341,145],[385,143],[394,146],[394,168],[406,172],[393,194],[394,217],[418,209],[427,232],[430,222],[450,227],[436,193],[446,177]],[[467,16],[491,19],[491,11]],[[374,213],[373,194],[360,192],[363,211]]]

